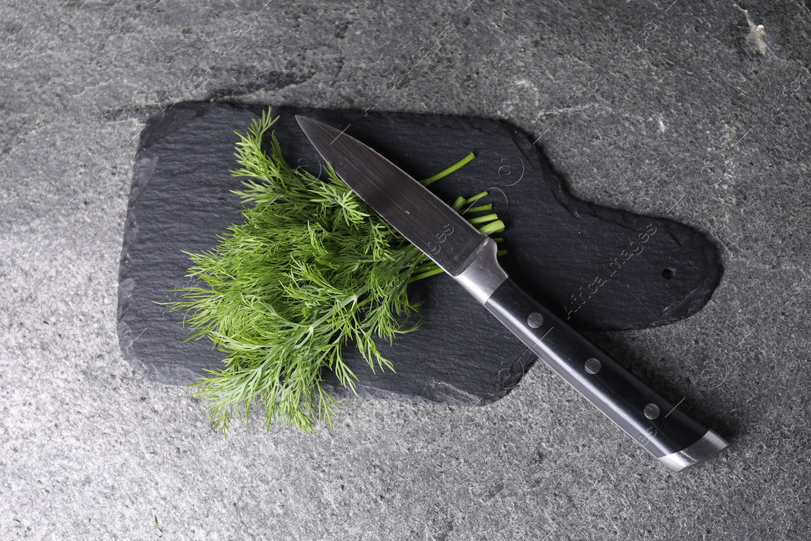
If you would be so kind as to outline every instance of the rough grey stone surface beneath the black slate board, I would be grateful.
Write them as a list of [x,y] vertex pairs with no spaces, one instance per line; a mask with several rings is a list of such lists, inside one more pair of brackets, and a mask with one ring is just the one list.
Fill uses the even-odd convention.
[[[0,539],[809,539],[811,9],[469,2],[2,2]],[[504,118],[581,198],[702,230],[710,304],[595,340],[731,448],[667,473],[540,364],[222,440],[123,361],[118,257],[144,118],[249,93]]]

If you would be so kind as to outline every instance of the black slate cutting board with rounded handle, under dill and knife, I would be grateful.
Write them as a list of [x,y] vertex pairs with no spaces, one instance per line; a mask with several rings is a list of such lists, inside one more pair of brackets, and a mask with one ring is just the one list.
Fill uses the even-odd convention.
[[[118,336],[129,363],[165,384],[189,384],[223,355],[207,340],[182,343],[180,315],[153,301],[178,300],[189,261],[242,221],[231,190],[234,131],[264,107],[183,102],[152,118],[135,158],[119,275]],[[491,190],[504,220],[508,273],[577,328],[624,330],[672,323],[698,311],[721,276],[702,234],[673,221],[587,204],[564,190],[526,134],[482,118],[274,107],[274,130],[291,165],[317,174],[320,157],[295,122],[306,114],[370,144],[414,178],[474,152],[476,159],[431,189],[448,202]],[[599,280],[597,278],[600,278]],[[534,356],[452,279],[415,282],[422,328],[383,346],[397,373],[372,373],[353,347],[345,358],[358,393],[482,405],[504,397]],[[346,393],[328,376],[328,387]]]

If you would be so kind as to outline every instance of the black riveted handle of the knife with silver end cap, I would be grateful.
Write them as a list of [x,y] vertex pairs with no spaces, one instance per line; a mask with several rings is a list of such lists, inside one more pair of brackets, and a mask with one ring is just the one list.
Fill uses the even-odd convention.
[[484,306],[552,370],[671,470],[684,470],[728,445],[530,298],[511,279],[502,282]]

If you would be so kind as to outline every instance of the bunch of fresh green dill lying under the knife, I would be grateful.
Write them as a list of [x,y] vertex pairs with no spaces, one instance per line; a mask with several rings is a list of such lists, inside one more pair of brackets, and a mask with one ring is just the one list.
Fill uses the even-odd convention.
[[[330,165],[324,179],[291,168],[273,132],[268,156],[263,137],[278,119],[271,111],[254,119],[247,134],[237,133],[234,155],[242,167],[231,173],[249,178],[234,191],[246,207],[244,223],[231,225],[210,251],[185,252],[193,263],[187,276],[198,285],[176,290],[187,300],[170,303],[172,311],[185,311],[183,324],[194,331],[187,340],[208,337],[225,354],[224,367],[192,384],[223,435],[234,418],[247,423],[253,406],[264,409],[268,430],[279,420],[305,432],[315,419],[332,426],[338,404],[321,386],[323,371],[355,390],[358,378],[341,356],[350,341],[372,371],[375,364],[394,370],[373,337],[391,342],[417,328],[405,327],[418,307],[406,286],[442,272]],[[488,211],[490,205],[472,206],[485,195],[459,198],[454,208]],[[471,221],[486,234],[504,230],[495,214]]]

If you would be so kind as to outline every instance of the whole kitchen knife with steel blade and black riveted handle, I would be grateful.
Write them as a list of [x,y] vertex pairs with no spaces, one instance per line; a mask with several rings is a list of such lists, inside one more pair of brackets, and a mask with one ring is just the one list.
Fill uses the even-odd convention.
[[530,298],[496,261],[496,242],[426,187],[344,131],[301,115],[296,120],[321,157],[380,217],[659,462],[680,471],[727,447],[719,434]]

